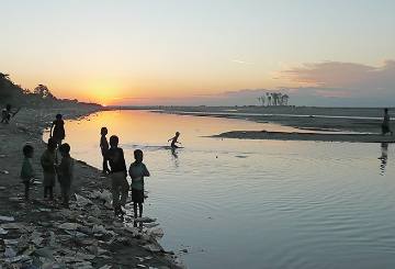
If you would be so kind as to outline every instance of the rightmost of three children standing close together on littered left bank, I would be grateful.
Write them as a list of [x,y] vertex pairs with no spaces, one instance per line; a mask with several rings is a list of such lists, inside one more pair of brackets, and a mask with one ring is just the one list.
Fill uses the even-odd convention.
[[61,197],[64,199],[65,208],[69,208],[69,201],[71,198],[71,183],[72,183],[72,170],[74,161],[70,157],[70,146],[65,143],[59,147],[61,154],[60,165],[57,167],[58,181],[60,183]]

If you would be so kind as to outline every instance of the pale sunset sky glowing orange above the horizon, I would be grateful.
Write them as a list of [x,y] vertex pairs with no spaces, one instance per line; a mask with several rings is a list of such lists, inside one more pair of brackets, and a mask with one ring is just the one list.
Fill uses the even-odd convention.
[[394,0],[0,0],[0,72],[101,104],[395,107]]

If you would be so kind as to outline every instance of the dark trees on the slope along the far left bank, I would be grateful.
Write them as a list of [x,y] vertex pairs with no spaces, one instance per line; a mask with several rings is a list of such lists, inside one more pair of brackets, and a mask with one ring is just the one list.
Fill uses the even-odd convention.
[[[63,107],[77,104],[78,100],[57,99],[45,85],[38,85],[32,91],[23,89],[20,85],[15,85],[10,75],[0,72],[0,103],[3,107],[7,103],[12,107]],[[1,108],[0,108],[1,109]]]

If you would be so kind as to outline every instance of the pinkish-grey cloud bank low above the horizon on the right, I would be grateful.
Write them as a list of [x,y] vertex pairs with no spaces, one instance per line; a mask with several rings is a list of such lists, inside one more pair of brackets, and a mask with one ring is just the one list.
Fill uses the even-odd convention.
[[[290,104],[329,105],[329,107],[381,107],[394,105],[395,100],[395,60],[383,60],[379,67],[354,63],[325,61],[292,67],[281,63],[283,71],[276,74],[275,91],[290,96]],[[281,86],[287,80],[296,87]],[[256,104],[258,97],[268,89],[242,89],[225,91],[207,100],[217,103]],[[203,100],[202,100],[203,101]]]

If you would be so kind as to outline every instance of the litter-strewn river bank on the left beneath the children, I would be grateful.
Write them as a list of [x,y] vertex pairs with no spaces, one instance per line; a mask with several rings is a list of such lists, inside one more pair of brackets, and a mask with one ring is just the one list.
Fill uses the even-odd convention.
[[[172,251],[165,250],[155,237],[148,235],[149,228],[143,227],[143,223],[134,227],[127,225],[133,223],[133,218],[123,223],[113,216],[108,203],[94,195],[111,190],[111,179],[83,160],[75,160],[72,187],[78,199],[71,199],[69,210],[58,202],[43,200],[40,165],[41,154],[46,148],[43,131],[50,127],[57,113],[61,113],[64,120],[78,120],[95,112],[100,110],[83,105],[23,109],[10,124],[0,124],[0,246],[1,254],[7,248],[15,253],[12,258],[0,254],[0,266],[185,268],[176,260]],[[36,172],[27,202],[23,199],[24,186],[19,179],[22,148],[26,144],[35,149],[32,164]],[[57,183],[54,195],[57,197],[58,192]]]

